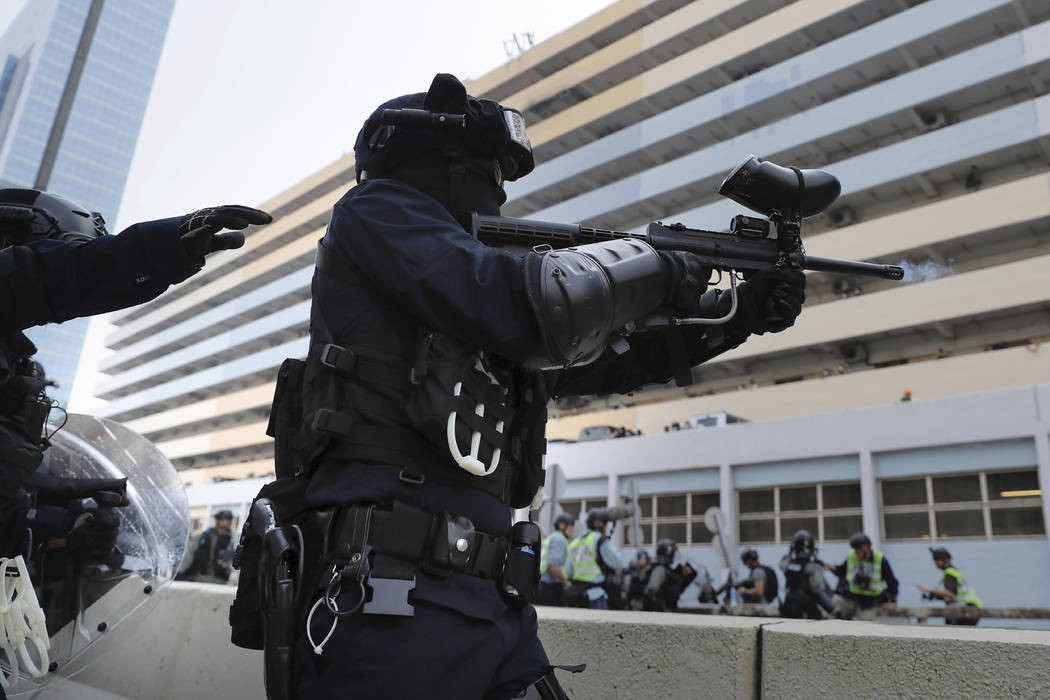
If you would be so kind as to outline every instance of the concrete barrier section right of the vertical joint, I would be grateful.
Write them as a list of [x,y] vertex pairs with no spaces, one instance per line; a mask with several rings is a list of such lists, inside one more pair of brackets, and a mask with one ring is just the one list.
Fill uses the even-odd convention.
[[762,627],[763,698],[1047,698],[1050,635],[782,621]]

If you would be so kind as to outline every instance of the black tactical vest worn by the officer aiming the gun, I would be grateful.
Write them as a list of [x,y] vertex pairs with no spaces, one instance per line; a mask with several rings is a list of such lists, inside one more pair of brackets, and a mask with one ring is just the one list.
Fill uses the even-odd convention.
[[[317,271],[365,283],[352,262],[321,245]],[[296,454],[286,455],[286,465],[295,460],[295,471],[307,475],[332,460],[395,465],[410,483],[435,479],[477,488],[512,508],[531,503],[543,485],[546,451],[548,387],[541,373],[425,326],[415,347],[406,347],[403,338],[382,331],[336,337],[320,314],[311,323],[307,360],[301,367],[286,361],[275,399],[274,413],[301,410],[302,417],[284,428],[298,432]],[[300,385],[298,373],[301,407],[287,398]],[[272,433],[281,432],[279,423],[271,418]],[[278,475],[287,468],[277,467]]]

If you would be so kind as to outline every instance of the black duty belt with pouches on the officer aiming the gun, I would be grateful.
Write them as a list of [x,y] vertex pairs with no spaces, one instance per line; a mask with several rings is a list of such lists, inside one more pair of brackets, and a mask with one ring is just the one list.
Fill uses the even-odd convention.
[[[350,579],[361,586],[364,613],[412,615],[408,592],[416,586],[418,570],[434,576],[459,572],[497,580],[507,550],[504,537],[476,530],[461,515],[429,513],[399,501],[392,510],[351,506],[333,518],[319,588],[333,599],[334,591]],[[372,589],[368,602],[365,584]]]

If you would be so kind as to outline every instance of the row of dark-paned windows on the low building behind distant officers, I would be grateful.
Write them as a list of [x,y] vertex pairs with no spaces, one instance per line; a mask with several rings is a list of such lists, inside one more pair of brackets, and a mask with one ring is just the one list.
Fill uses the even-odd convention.
[[[863,529],[860,482],[774,486],[737,491],[737,533],[744,545],[786,545],[798,530],[821,543],[847,542]],[[670,537],[679,546],[710,545],[704,513],[717,491],[666,493],[638,500],[640,546]],[[584,517],[605,499],[563,501],[562,510]],[[882,538],[992,539],[1044,535],[1042,492],[1034,469],[982,471],[879,482]]]

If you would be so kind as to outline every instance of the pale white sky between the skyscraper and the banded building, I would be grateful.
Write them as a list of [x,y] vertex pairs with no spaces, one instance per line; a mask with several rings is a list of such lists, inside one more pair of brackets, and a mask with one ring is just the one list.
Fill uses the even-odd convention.
[[[0,34],[32,0],[0,0]],[[611,0],[175,0],[111,232],[219,204],[256,206],[353,150],[381,102],[437,72],[478,78]],[[514,49],[517,50],[517,49]],[[91,389],[109,326],[92,320],[70,398]]]

